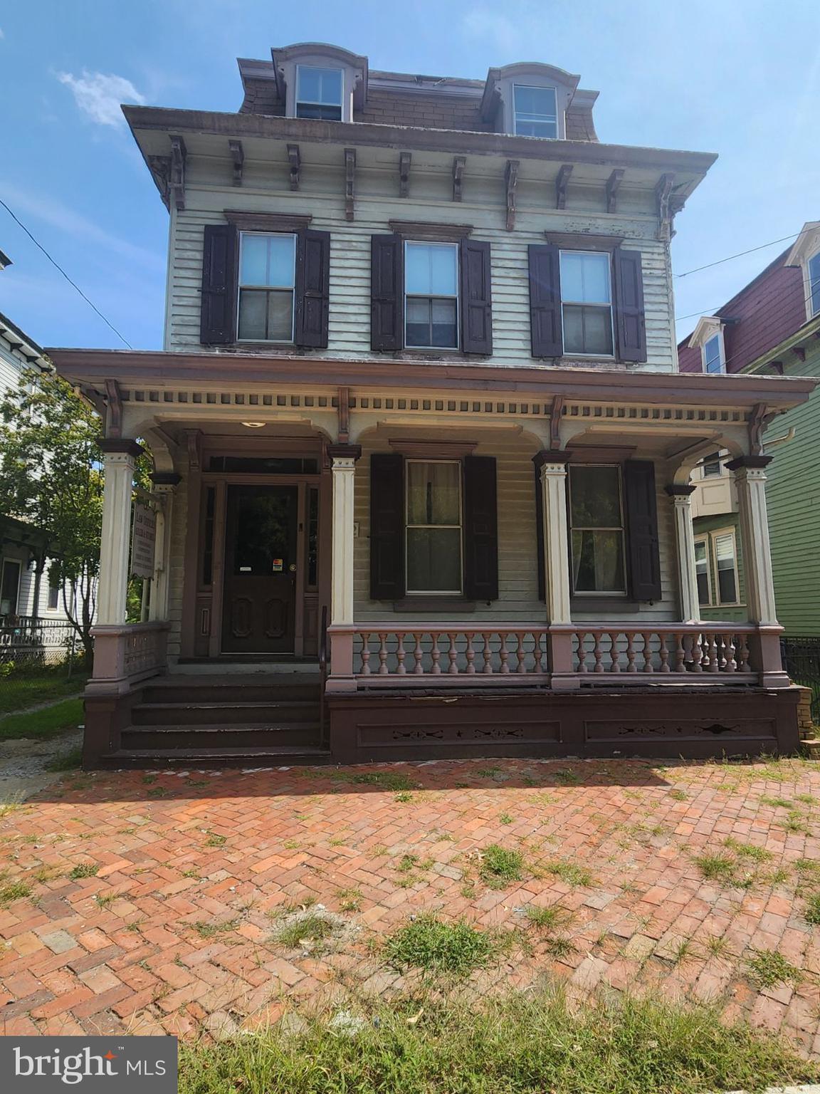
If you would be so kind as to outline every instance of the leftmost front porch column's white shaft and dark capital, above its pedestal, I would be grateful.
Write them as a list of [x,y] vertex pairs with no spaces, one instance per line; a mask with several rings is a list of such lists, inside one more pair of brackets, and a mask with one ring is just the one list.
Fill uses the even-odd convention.
[[136,441],[112,438],[101,441],[99,447],[105,453],[105,486],[96,622],[98,626],[121,626],[126,621],[131,486],[134,461],[142,446]]

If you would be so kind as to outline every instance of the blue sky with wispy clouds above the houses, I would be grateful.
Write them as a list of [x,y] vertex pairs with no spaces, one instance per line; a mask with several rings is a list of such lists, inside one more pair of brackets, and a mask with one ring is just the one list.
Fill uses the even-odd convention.
[[[373,68],[483,78],[543,60],[600,91],[602,141],[715,151],[678,274],[820,219],[816,0],[30,0],[0,7],[0,197],[138,348],[161,346],[167,214],[120,101],[235,110],[236,57],[319,39]],[[708,313],[782,249],[676,280]],[[0,311],[46,346],[116,337],[0,208]],[[694,319],[682,319],[683,335]]]

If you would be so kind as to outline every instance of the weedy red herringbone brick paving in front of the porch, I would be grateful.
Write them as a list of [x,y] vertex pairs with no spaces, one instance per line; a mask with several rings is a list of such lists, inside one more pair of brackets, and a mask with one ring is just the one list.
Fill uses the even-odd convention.
[[[478,990],[557,975],[582,992],[716,999],[817,1055],[815,799],[820,767],[800,760],[69,776],[0,819],[4,1028],[224,1032],[390,991],[402,980],[374,940],[435,910],[522,932]],[[520,881],[481,880],[490,843],[523,853]],[[713,880],[695,861],[707,854]],[[341,917],[341,938],[277,942],[281,917],[312,901]],[[553,904],[562,928],[528,923],[526,908]],[[790,980],[755,984],[754,951],[777,951]]]

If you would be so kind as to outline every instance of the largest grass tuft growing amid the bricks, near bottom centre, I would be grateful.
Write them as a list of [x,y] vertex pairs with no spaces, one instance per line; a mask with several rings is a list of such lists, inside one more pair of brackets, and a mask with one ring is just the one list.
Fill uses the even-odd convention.
[[478,930],[464,920],[444,923],[424,913],[387,939],[384,955],[397,969],[420,968],[425,973],[467,976],[503,953],[507,941],[506,936]]

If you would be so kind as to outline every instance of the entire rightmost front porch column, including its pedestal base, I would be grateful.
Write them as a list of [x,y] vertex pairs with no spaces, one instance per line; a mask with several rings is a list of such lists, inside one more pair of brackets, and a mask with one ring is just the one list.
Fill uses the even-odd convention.
[[740,542],[743,546],[743,580],[749,621],[758,624],[758,632],[749,640],[749,661],[766,687],[788,687],[783,671],[780,636],[772,579],[772,552],[769,545],[765,468],[772,456],[738,456],[726,466],[735,473],[738,497]]

